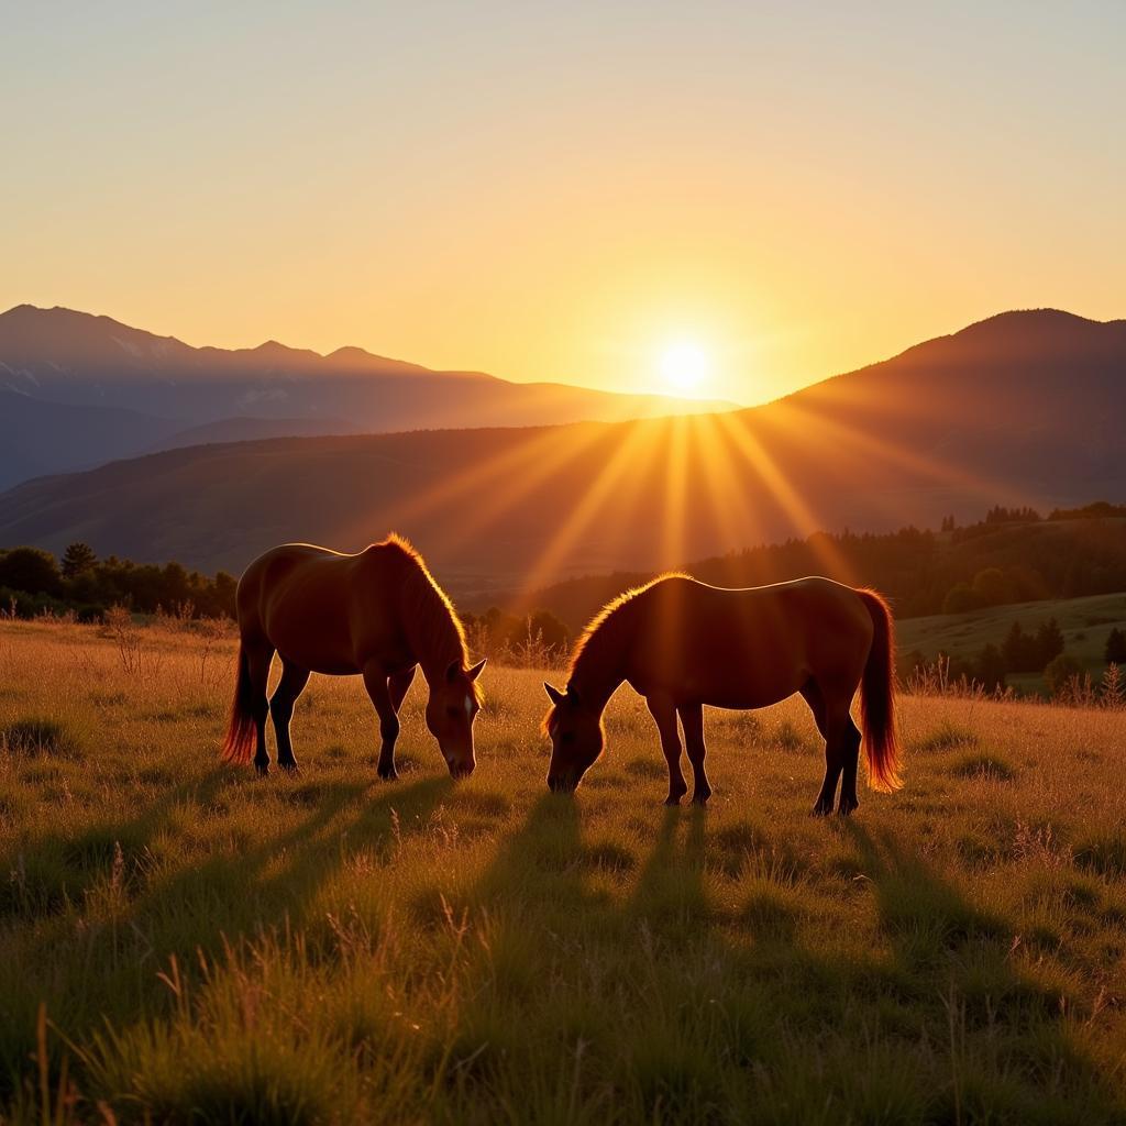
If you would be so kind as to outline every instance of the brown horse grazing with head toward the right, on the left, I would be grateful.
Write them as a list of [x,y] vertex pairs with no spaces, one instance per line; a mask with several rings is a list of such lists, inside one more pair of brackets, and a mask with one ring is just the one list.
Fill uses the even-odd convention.
[[[266,716],[274,717],[278,766],[297,767],[289,741],[294,705],[311,672],[363,676],[379,716],[379,777],[396,778],[399,706],[422,667],[430,686],[426,723],[449,772],[472,774],[475,683],[484,661],[466,668],[465,634],[454,607],[405,539],[388,536],[356,555],[284,544],[260,555],[239,580],[239,670],[226,733],[229,761],[268,774]],[[267,701],[274,653],[282,679]]]

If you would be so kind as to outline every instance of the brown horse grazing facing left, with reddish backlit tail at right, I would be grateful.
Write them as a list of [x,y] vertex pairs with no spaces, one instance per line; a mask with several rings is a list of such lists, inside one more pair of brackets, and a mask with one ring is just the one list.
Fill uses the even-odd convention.
[[667,804],[688,786],[680,772],[685,731],[692,801],[712,795],[704,772],[704,705],[767,707],[801,692],[825,740],[825,780],[813,812],[857,807],[860,732],[850,714],[860,689],[868,785],[902,783],[895,740],[894,626],[872,590],[829,579],[801,579],[749,590],[722,590],[681,574],[664,575],[607,605],[590,623],[571,660],[566,691],[545,683],[552,708],[547,784],[573,790],[602,750],[601,716],[624,680],[649,705],[669,763]]

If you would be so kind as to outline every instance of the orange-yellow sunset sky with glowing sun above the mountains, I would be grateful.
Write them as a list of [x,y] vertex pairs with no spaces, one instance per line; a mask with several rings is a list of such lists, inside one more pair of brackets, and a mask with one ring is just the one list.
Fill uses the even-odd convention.
[[6,5],[0,307],[756,403],[1126,316],[1126,5]]

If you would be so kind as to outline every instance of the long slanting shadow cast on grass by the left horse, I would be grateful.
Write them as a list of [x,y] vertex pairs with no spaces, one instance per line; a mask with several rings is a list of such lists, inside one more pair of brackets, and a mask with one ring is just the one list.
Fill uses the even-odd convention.
[[[170,956],[191,966],[200,956],[221,954],[229,939],[301,926],[343,860],[343,839],[385,855],[396,834],[425,826],[454,783],[440,776],[394,785],[324,784],[316,787],[315,802],[291,803],[304,814],[295,824],[161,875],[154,850],[161,835],[175,830],[178,811],[189,806],[203,815],[232,792],[249,801],[245,787],[257,785],[270,783],[244,781],[230,768],[215,768],[160,794],[134,817],[107,820],[78,834],[39,834],[0,859],[5,872],[17,874],[2,888],[0,921],[27,926],[20,973],[44,983],[39,991],[5,999],[0,1096],[11,1093],[24,1071],[41,1001],[51,1019],[78,1038],[101,1026],[111,1010],[160,1011],[168,997],[157,975]],[[79,927],[72,905],[86,909]],[[99,967],[92,981],[89,966]],[[60,1051],[53,1043],[53,1052]]]

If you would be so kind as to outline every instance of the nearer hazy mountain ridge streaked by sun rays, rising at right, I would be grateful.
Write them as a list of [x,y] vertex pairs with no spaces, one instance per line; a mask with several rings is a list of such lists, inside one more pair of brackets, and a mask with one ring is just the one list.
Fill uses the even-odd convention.
[[0,543],[241,570],[411,536],[457,592],[1126,497],[1126,322],[1006,313],[752,410],[190,447],[0,495]]

